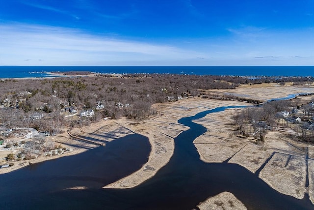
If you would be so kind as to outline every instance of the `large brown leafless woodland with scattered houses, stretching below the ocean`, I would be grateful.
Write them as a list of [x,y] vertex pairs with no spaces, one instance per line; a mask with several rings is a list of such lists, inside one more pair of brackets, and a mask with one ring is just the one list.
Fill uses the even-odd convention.
[[[73,74],[75,72],[71,72]],[[57,134],[64,126],[87,125],[104,118],[145,119],[155,113],[151,109],[152,104],[201,97],[202,90],[235,89],[239,84],[285,81],[305,84],[314,79],[175,74],[2,79],[0,128],[33,127]],[[81,117],[78,117],[79,113]]]

